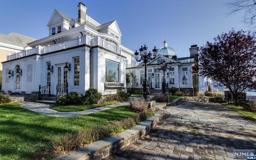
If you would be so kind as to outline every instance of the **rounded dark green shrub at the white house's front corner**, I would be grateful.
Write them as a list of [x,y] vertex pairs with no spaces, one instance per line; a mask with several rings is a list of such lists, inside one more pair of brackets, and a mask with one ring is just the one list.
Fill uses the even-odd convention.
[[95,88],[89,88],[86,90],[83,97],[83,104],[97,104],[102,94]]

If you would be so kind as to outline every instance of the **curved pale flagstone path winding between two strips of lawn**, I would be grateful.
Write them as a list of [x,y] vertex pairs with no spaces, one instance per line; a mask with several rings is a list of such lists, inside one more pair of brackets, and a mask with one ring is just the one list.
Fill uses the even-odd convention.
[[32,110],[34,112],[38,112],[41,114],[45,114],[48,116],[55,116],[55,117],[74,117],[74,116],[82,116],[86,114],[91,114],[95,112],[100,112],[103,110],[115,108],[118,106],[124,106],[124,105],[129,105],[129,102],[122,102],[118,104],[112,104],[109,106],[103,106],[103,107],[98,107],[90,110],[84,110],[84,111],[79,111],[79,112],[58,112],[56,110],[50,109],[50,107],[54,106],[52,104],[44,104],[44,103],[37,103],[37,102],[18,102],[22,104],[23,108],[27,108],[28,110]]

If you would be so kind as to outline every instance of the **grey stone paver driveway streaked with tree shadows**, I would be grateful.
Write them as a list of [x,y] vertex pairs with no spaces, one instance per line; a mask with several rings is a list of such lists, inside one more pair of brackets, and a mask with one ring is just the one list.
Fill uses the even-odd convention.
[[144,138],[106,160],[233,160],[256,149],[256,123],[220,104],[180,102]]

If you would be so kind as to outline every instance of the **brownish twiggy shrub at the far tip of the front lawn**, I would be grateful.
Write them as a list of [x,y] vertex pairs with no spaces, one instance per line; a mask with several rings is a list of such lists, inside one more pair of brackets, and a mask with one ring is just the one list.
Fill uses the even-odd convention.
[[145,112],[148,110],[148,102],[144,98],[132,98],[130,101],[130,108],[134,110],[134,112]]

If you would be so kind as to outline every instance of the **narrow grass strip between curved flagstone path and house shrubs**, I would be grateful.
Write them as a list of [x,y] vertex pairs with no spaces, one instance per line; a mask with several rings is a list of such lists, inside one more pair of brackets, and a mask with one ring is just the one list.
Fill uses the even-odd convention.
[[78,112],[78,111],[83,111],[83,110],[90,110],[93,108],[98,108],[102,106],[108,106],[111,104],[116,104],[119,103],[116,100],[105,102],[104,104],[90,104],[90,105],[77,105],[77,106],[54,106],[51,107],[51,109],[56,110],[58,112]]

